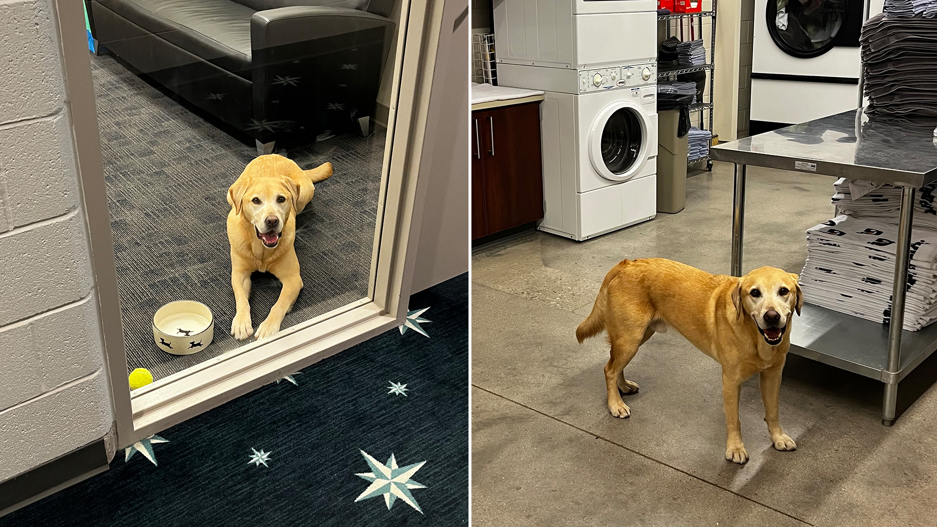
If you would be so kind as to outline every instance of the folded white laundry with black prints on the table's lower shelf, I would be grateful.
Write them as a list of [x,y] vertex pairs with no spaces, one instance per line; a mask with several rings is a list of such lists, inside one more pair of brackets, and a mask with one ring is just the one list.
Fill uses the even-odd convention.
[[[898,227],[877,219],[842,215],[807,230],[807,263],[799,284],[808,302],[890,321]],[[937,231],[915,228],[903,328],[917,331],[935,320]]]

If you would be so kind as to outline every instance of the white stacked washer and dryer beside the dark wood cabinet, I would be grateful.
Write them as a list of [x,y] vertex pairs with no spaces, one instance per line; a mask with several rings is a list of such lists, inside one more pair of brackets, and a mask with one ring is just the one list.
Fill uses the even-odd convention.
[[540,230],[586,240],[657,214],[655,0],[495,2],[498,84],[545,91]]

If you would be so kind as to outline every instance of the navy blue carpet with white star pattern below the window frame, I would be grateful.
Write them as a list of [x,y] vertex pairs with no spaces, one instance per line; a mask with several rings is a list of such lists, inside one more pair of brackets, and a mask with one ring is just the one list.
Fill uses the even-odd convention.
[[[335,354],[297,384],[268,384],[159,432],[158,465],[119,450],[108,472],[0,526],[468,524],[468,275],[412,295],[410,309],[424,308],[428,338],[393,329]],[[269,456],[252,462],[255,450]],[[385,485],[356,502],[374,479],[356,474],[380,476],[392,455],[391,477],[425,462],[398,477],[404,490],[385,498]]]

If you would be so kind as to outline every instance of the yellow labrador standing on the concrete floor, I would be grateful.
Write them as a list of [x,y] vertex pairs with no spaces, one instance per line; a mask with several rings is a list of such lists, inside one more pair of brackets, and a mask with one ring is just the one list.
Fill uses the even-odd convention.
[[761,267],[736,278],[710,275],[662,258],[623,260],[605,275],[592,312],[576,328],[576,339],[582,343],[602,329],[608,333],[608,410],[628,417],[632,411],[618,391],[636,392],[638,385],[625,379],[623,369],[655,332],[676,328],[721,364],[728,430],[725,459],[744,463],[749,454],[738,423],[738,398],[742,383],[755,373],[774,447],[796,448],[778,422],[778,392],[791,345],[791,319],[795,311],[800,314],[803,303],[797,276],[775,267]]

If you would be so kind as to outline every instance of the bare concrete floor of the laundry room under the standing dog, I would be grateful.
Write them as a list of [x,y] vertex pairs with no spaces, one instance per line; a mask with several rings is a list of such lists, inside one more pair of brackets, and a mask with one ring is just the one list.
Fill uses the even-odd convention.
[[[751,460],[723,459],[720,369],[676,332],[642,346],[629,419],[605,406],[603,339],[573,332],[607,270],[665,257],[729,270],[732,167],[687,181],[687,207],[584,243],[533,233],[472,257],[474,525],[937,525],[937,391],[880,424],[882,384],[790,356],[770,444],[757,379],[742,389]],[[799,272],[833,178],[749,168],[746,271]],[[796,321],[795,321],[796,324]]]

